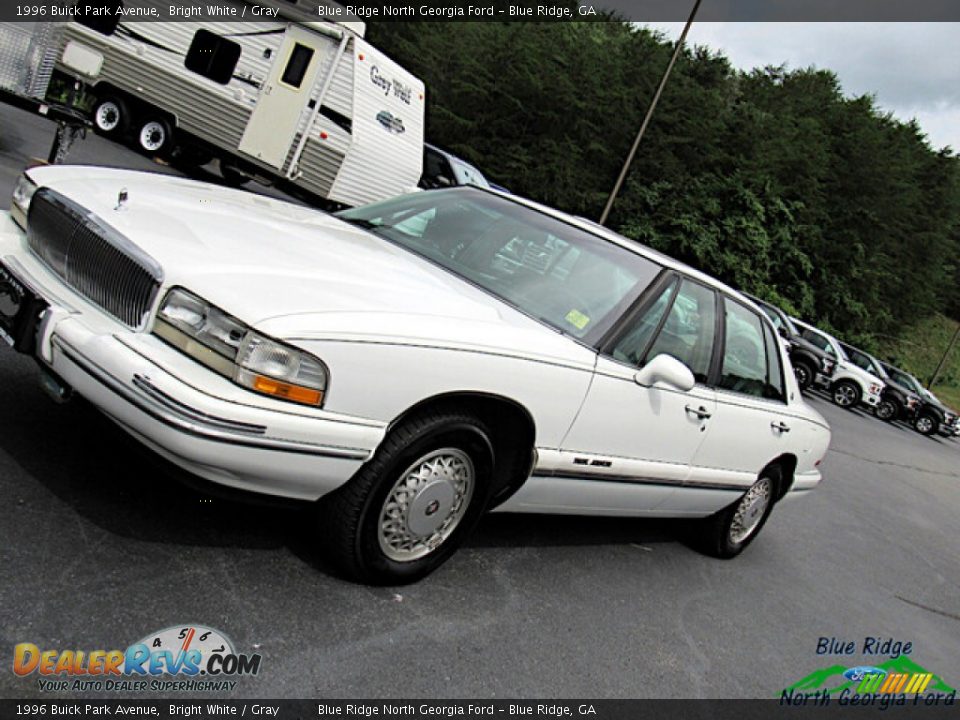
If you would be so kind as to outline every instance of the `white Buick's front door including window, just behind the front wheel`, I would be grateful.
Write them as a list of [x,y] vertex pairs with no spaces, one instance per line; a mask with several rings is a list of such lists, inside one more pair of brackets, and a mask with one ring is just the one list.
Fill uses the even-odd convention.
[[[688,279],[673,278],[654,294],[599,358],[556,474],[624,483],[631,489],[631,507],[622,506],[622,494],[617,502],[632,511],[656,511],[686,483],[716,410],[716,393],[703,384],[713,356],[716,308],[713,290]],[[684,392],[637,384],[637,371],[660,354],[684,363],[696,386]]]

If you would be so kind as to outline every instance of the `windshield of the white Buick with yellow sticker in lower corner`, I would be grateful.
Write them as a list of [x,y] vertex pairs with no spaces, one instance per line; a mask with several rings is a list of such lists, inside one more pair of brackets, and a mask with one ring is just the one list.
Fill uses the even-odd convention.
[[661,270],[616,243],[482,190],[416,193],[337,217],[589,342]]

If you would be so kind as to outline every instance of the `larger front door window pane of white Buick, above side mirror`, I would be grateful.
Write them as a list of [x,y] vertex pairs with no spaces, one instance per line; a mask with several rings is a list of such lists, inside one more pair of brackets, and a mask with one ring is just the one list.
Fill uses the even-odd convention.
[[713,357],[717,304],[713,290],[690,280],[680,284],[667,321],[647,351],[643,362],[657,355],[672,355],[693,372],[697,382],[706,382]]

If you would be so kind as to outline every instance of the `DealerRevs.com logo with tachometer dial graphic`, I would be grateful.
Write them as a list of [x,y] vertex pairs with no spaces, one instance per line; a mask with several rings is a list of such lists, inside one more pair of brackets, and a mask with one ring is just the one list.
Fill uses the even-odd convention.
[[261,656],[236,652],[219,630],[196,624],[150,633],[126,650],[59,650],[20,643],[13,672],[44,692],[224,692],[260,672]]

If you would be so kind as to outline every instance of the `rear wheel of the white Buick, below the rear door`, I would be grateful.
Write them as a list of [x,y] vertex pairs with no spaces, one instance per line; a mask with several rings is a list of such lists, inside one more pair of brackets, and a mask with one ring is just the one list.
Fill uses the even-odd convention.
[[722,559],[736,557],[760,533],[770,517],[782,481],[777,466],[761,473],[739,500],[715,515],[700,521],[703,551]]

